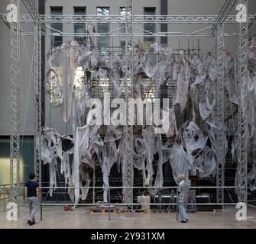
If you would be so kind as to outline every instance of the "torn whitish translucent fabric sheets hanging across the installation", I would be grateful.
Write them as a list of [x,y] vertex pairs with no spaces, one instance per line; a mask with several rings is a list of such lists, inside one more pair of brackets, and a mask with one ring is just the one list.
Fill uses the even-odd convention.
[[[254,127],[255,106],[254,95],[256,82],[256,39],[249,43],[248,77],[248,111],[251,152],[256,152],[256,135]],[[65,185],[73,186],[69,189],[70,198],[75,203],[85,200],[89,188],[79,189],[80,186],[89,187],[91,178],[89,171],[100,167],[103,178],[103,199],[107,202],[109,175],[114,164],[117,169],[124,169],[125,136],[122,124],[104,126],[104,135],[100,135],[100,126],[89,123],[89,111],[93,111],[90,120],[102,117],[102,110],[90,103],[90,99],[97,94],[97,89],[103,88],[111,92],[112,98],[124,97],[125,88],[125,50],[121,55],[109,53],[99,56],[99,50],[92,43],[80,45],[76,41],[63,43],[48,53],[48,71],[45,82],[46,93],[53,108],[60,107],[63,121],[73,122],[73,138],[60,136],[53,128],[45,127],[42,132],[42,159],[49,163],[50,186],[56,186],[57,159],[61,160],[60,173],[65,176]],[[134,98],[149,98],[153,91],[154,98],[160,97],[162,85],[177,85],[173,92],[173,101],[169,108],[168,130],[155,133],[156,123],[145,124],[147,109],[143,106],[143,123],[137,126],[140,133],[134,133],[134,168],[141,171],[144,186],[150,194],[156,194],[163,186],[163,165],[170,162],[173,178],[178,180],[180,173],[188,178],[189,170],[199,170],[199,177],[214,175],[216,160],[219,159],[218,133],[224,131],[225,124],[219,124],[215,114],[215,81],[218,66],[215,57],[208,53],[205,59],[198,54],[188,55],[186,51],[173,50],[167,44],[152,43],[147,50],[134,46]],[[225,79],[225,93],[232,104],[238,104],[238,82],[235,72],[236,61],[231,53],[225,53],[227,66]],[[82,67],[83,75],[76,77],[76,70]],[[100,96],[99,96],[100,97]],[[188,108],[188,101],[192,102],[193,118],[186,123],[178,123],[177,108],[183,114]],[[104,108],[109,101],[104,100]],[[175,105],[175,106],[174,106]],[[196,108],[200,120],[205,123],[204,133],[196,124]],[[136,108],[138,110],[138,106]],[[111,111],[109,111],[111,112]],[[159,108],[164,117],[167,113]],[[106,111],[104,110],[104,113]],[[103,113],[103,115],[105,115]],[[116,117],[117,124],[122,118]],[[164,119],[163,119],[164,121]],[[137,120],[138,122],[138,120]],[[185,122],[185,121],[183,121]],[[164,124],[165,121],[164,121]],[[166,139],[164,139],[164,137]],[[180,138],[175,140],[173,138]],[[225,153],[228,142],[225,138]],[[63,149],[63,140],[70,140],[70,148]],[[236,143],[232,152],[235,157]],[[253,167],[248,174],[250,184],[255,184],[255,159],[251,157]],[[154,169],[157,165],[157,169]],[[50,191],[52,194],[52,191]]]

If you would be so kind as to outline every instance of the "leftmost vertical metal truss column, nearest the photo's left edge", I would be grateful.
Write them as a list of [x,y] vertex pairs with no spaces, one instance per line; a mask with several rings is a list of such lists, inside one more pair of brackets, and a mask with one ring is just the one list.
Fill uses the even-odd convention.
[[[11,0],[11,136],[10,136],[10,185],[11,201],[18,204],[20,182],[20,133],[19,133],[19,72],[20,72],[20,23],[19,0]],[[15,7],[16,6],[16,7]],[[15,18],[17,16],[17,19]],[[15,187],[16,185],[16,187]]]

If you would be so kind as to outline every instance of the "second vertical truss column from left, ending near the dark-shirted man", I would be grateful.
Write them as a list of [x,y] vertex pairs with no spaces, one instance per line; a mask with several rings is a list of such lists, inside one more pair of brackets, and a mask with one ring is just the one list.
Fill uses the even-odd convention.
[[34,23],[34,173],[41,186],[41,24]]

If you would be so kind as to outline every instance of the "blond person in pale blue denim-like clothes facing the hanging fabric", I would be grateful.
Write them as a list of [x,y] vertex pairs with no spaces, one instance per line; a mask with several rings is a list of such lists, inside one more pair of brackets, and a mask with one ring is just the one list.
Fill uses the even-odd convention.
[[185,181],[185,175],[181,174],[179,178],[180,178],[180,183],[178,185],[177,204],[178,204],[178,209],[181,216],[181,222],[186,223],[188,220],[187,213],[186,213],[186,204],[188,201],[190,184]]

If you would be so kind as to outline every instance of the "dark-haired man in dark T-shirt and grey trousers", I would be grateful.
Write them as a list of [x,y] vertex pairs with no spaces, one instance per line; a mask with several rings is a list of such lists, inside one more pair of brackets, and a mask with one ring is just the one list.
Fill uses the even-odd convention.
[[30,181],[25,184],[25,201],[29,204],[29,214],[30,217],[27,221],[28,225],[33,225],[35,222],[34,214],[37,211],[38,207],[38,198],[39,198],[39,184],[35,181],[34,173],[29,175]]

